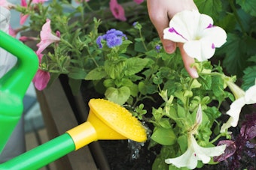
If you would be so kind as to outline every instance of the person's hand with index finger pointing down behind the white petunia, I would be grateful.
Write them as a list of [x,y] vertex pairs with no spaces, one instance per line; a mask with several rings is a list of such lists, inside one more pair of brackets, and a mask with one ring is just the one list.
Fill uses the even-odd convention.
[[163,29],[169,27],[169,21],[172,19],[172,16],[182,10],[197,10],[196,4],[194,4],[193,0],[148,0],[147,3],[148,15],[154,27],[157,29],[157,33],[163,43],[163,48],[167,53],[171,54],[175,52],[176,46],[178,46],[187,73],[189,73],[192,78],[197,78],[197,69],[190,67],[190,65],[194,63],[194,58],[190,58],[190,56],[184,52],[183,43],[175,43],[171,40],[163,39]]

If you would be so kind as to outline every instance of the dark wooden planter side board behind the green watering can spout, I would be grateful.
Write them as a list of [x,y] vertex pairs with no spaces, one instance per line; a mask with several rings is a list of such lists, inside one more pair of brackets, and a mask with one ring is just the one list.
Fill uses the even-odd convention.
[[[53,82],[50,88],[44,91],[37,91],[37,96],[50,139],[78,126],[78,121],[75,119],[75,115],[58,79]],[[55,164],[57,169],[62,170],[97,169],[87,146],[56,160]]]

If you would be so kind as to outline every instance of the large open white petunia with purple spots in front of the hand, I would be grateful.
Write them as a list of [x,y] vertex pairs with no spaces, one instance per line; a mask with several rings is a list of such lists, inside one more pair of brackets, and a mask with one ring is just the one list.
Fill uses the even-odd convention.
[[198,10],[183,10],[176,13],[169,22],[169,28],[163,30],[163,38],[184,43],[184,50],[191,58],[206,61],[221,47],[227,39],[223,28],[214,26],[211,16]]

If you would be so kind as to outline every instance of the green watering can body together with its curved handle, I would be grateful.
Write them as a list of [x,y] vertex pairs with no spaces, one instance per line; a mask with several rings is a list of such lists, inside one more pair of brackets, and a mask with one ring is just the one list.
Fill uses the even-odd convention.
[[22,115],[23,97],[38,70],[38,57],[28,46],[1,30],[0,47],[17,56],[17,64],[0,79],[1,153]]

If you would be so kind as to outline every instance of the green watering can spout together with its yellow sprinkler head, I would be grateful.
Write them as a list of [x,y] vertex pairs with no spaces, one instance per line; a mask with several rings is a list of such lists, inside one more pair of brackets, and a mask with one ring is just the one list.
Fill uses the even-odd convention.
[[87,122],[6,163],[1,170],[39,169],[54,160],[100,139],[145,142],[145,127],[123,107],[108,100],[91,99]]

